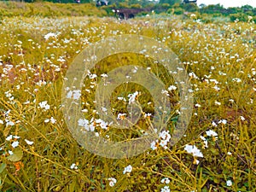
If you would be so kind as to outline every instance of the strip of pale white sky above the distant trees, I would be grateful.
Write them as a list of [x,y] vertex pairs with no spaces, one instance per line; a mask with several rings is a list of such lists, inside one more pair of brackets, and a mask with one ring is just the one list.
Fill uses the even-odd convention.
[[241,7],[242,5],[249,4],[256,8],[256,0],[197,0],[197,5],[204,3],[208,4],[222,4],[224,8]]

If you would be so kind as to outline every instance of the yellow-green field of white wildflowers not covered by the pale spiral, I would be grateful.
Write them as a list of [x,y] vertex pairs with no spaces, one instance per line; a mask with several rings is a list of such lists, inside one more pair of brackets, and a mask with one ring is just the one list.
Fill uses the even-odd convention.
[[[21,15],[3,16],[0,29],[1,191],[255,191],[253,21]],[[114,141],[147,132],[154,102],[140,84],[122,84],[111,96],[119,122],[127,119],[131,102],[139,103],[143,115],[133,129],[115,130],[95,108],[104,74],[131,63],[147,66],[166,84],[159,94],[168,96],[173,109],[151,148],[111,159],[90,153],[73,138],[61,110],[61,89],[68,67],[83,49],[124,34],[154,38],[172,49],[188,73],[194,105],[187,131],[169,146],[180,107],[172,76],[143,55],[123,53],[98,62],[83,90],[67,90],[67,97],[81,97],[84,119],[78,123],[84,130]]]

